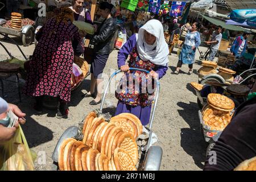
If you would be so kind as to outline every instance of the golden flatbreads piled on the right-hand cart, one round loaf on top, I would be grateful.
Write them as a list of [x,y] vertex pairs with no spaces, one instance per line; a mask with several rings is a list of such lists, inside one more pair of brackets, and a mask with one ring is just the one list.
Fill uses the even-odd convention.
[[208,105],[205,105],[202,110],[204,124],[210,130],[224,130],[231,121],[230,111],[234,109],[234,102],[216,93],[208,94],[207,102]]

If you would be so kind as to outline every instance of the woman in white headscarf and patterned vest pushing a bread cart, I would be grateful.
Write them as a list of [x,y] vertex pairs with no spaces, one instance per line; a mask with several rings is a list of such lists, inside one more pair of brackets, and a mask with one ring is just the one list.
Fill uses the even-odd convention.
[[[126,64],[129,55],[130,58]],[[115,115],[131,113],[141,119],[142,125],[148,124],[154,99],[154,88],[150,86],[152,85],[151,78],[159,79],[166,74],[168,55],[169,49],[164,40],[163,26],[159,20],[155,19],[144,24],[139,29],[139,33],[131,36],[123,45],[118,52],[117,62],[118,68],[126,73],[115,92],[115,97],[119,100]],[[145,69],[150,71],[150,74],[129,71],[129,68]],[[139,84],[135,84],[136,82]],[[150,92],[150,87],[152,92]]]

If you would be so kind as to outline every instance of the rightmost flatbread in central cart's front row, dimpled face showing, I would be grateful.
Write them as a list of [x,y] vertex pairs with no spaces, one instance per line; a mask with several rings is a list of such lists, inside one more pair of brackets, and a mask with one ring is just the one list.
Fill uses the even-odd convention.
[[114,151],[114,163],[117,171],[137,171],[133,159],[128,152],[122,148],[116,148]]

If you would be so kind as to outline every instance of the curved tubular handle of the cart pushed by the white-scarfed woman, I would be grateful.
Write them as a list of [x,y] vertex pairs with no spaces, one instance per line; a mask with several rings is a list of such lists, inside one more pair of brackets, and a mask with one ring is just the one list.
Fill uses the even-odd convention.
[[[150,73],[149,71],[146,71],[144,69],[138,69],[138,68],[129,68],[129,70],[130,71],[141,71],[141,72],[145,72],[145,73]],[[101,107],[100,107],[101,113],[102,113],[104,101],[105,101],[105,98],[106,98],[106,93],[108,92],[108,89],[109,89],[110,82],[112,81],[112,78],[120,72],[122,72],[121,69],[114,72],[112,74],[112,76],[110,76],[110,78],[109,78],[109,82],[108,82],[108,85],[106,85],[106,89],[104,90],[104,95],[103,95],[102,102],[101,102]],[[156,80],[156,94],[155,94],[155,100],[154,100],[155,102],[154,102],[154,107],[153,107],[153,110],[152,110],[152,114],[151,114],[151,117],[150,117],[150,123],[149,123],[149,127],[148,127],[150,130],[151,130],[151,127],[152,127],[152,123],[154,121],[155,109],[156,109],[156,104],[158,102],[158,96],[159,96],[159,90],[160,90],[159,80]]]

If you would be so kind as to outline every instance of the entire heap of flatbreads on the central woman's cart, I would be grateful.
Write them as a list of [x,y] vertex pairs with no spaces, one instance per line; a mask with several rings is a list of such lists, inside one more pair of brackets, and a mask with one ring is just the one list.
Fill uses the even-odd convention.
[[106,122],[93,111],[84,119],[82,134],[82,141],[68,138],[61,144],[61,171],[137,171],[142,124],[135,115],[122,113]]

